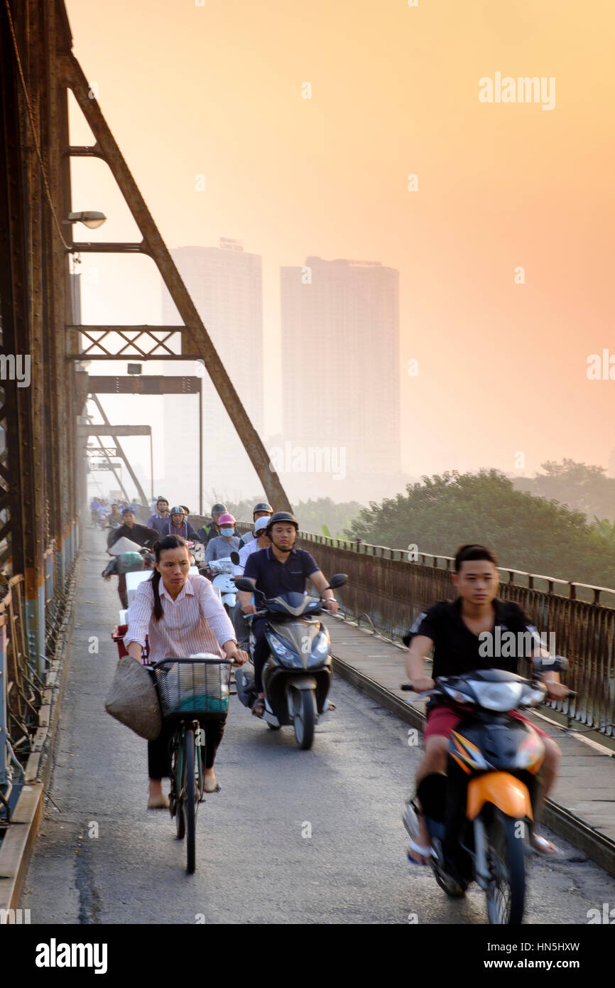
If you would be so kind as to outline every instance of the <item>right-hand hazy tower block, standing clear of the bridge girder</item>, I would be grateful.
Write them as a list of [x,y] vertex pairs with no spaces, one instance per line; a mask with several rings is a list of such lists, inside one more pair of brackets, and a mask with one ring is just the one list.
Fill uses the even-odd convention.
[[[320,257],[281,268],[281,338],[286,459],[308,448],[310,494],[365,502],[399,489],[399,272]],[[329,473],[313,455],[312,476],[311,446],[331,448]],[[284,482],[296,496],[292,472]]]

